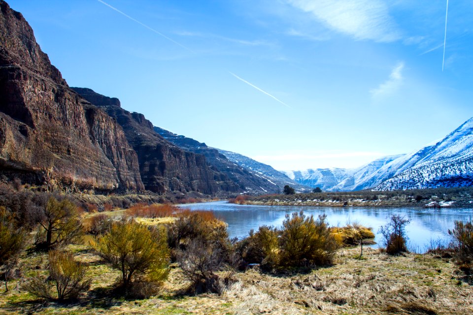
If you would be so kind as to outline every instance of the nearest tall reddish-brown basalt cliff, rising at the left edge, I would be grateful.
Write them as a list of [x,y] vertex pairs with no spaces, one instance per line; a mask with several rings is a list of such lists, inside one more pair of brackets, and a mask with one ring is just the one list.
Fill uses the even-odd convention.
[[70,90],[21,13],[0,0],[0,173],[64,190],[140,191],[122,127]]

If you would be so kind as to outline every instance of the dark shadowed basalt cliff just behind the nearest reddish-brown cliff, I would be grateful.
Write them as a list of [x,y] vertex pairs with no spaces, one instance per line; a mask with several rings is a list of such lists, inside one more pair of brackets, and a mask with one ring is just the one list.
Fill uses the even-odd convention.
[[[128,142],[138,155],[141,179],[147,190],[183,194],[197,191],[212,195],[242,191],[227,174],[209,165],[203,155],[173,145],[159,135],[142,114],[121,108],[117,98],[100,95],[90,89],[72,89],[99,106],[123,127]],[[112,104],[112,101],[115,103]]]

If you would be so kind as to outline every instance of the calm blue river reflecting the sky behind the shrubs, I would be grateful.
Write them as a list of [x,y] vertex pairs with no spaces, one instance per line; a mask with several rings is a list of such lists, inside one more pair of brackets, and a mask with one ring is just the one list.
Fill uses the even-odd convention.
[[[349,222],[359,222],[373,228],[375,242],[380,242],[377,231],[386,224],[392,214],[404,215],[410,220],[406,227],[410,249],[424,252],[430,240],[449,240],[448,229],[453,221],[471,221],[473,209],[412,209],[412,208],[339,208],[339,207],[300,207],[300,206],[247,206],[235,205],[226,201],[179,205],[191,210],[213,210],[215,216],[228,223],[230,237],[243,237],[251,229],[260,225],[281,226],[286,214],[303,210],[307,215],[327,215],[331,226],[343,226]],[[377,245],[374,245],[377,246]]]

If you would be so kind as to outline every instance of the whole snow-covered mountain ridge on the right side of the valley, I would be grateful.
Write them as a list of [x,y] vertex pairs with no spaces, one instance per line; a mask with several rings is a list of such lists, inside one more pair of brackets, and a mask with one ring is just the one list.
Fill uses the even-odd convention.
[[395,190],[473,185],[473,118],[441,141],[406,155],[388,156],[355,169],[284,172],[324,190]]

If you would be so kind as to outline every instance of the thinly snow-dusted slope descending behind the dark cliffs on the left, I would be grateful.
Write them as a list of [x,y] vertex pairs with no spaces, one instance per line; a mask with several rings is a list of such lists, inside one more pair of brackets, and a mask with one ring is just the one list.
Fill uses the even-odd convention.
[[310,187],[298,183],[293,179],[289,178],[286,174],[283,174],[279,171],[276,171],[268,164],[264,164],[258,162],[252,158],[248,158],[243,156],[239,153],[226,151],[222,149],[216,149],[220,154],[223,154],[229,161],[238,164],[239,166],[243,167],[244,169],[248,170],[249,172],[253,173],[254,175],[261,177],[268,182],[272,183],[273,185],[279,188],[279,191],[282,191],[285,185],[289,185],[292,188],[296,189],[298,192],[311,190]]

